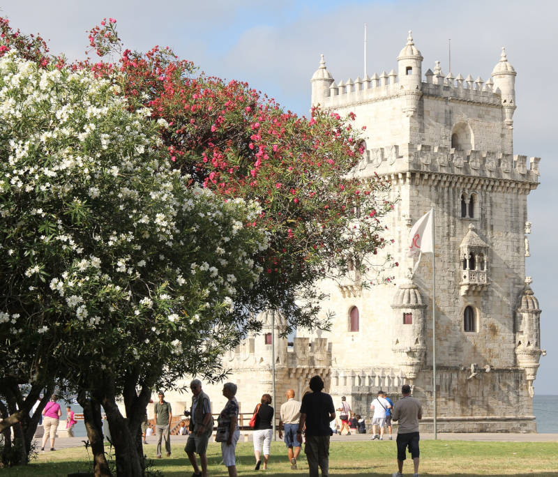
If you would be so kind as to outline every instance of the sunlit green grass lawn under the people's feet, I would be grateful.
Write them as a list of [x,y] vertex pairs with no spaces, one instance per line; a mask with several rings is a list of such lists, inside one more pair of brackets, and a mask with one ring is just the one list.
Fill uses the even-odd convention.
[[[146,446],[147,456],[154,459],[155,447]],[[108,450],[108,449],[107,449]],[[329,472],[331,476],[391,476],[397,470],[395,441],[333,442],[330,448]],[[154,459],[155,469],[163,475],[190,476],[192,468],[183,451],[183,444],[172,446],[172,457]],[[209,475],[227,476],[220,463],[220,445],[209,444]],[[251,442],[236,447],[236,467],[242,476],[308,475],[308,464],[303,453],[299,457],[299,470],[291,471],[282,442],[273,442],[269,469],[254,470]],[[56,452],[39,453],[38,459],[27,467],[1,469],[2,477],[58,477],[70,472],[88,469],[85,448],[68,448]],[[412,476],[412,460],[407,458],[404,475]],[[421,476],[558,476],[557,442],[472,442],[421,441]]]

